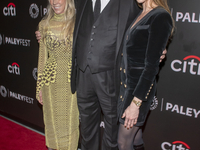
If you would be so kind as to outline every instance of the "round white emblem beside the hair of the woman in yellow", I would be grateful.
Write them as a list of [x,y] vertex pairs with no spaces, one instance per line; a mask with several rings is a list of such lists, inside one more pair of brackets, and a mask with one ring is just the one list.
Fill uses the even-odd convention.
[[46,8],[42,8],[40,6],[40,9],[37,4],[33,3],[29,7],[29,14],[32,18],[36,19],[39,16],[39,13],[41,12],[41,17],[43,17],[47,13]]

